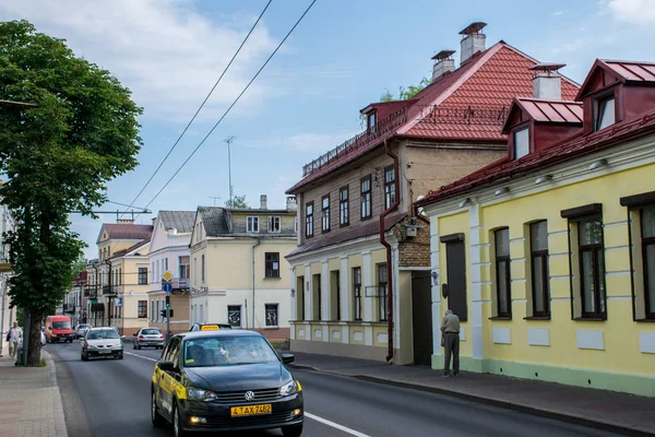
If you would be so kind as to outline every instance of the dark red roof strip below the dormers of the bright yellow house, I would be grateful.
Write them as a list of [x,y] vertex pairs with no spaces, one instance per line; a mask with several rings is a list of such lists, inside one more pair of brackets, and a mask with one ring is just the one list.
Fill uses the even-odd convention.
[[430,191],[428,196],[416,202],[416,204],[425,206],[429,203],[455,196],[463,196],[478,188],[499,184],[536,169],[568,162],[653,133],[655,133],[655,109],[609,126],[586,137],[577,133],[557,145],[545,149],[541,152],[531,153],[520,160],[509,161],[508,157],[503,157],[451,185],[441,187],[437,191]]

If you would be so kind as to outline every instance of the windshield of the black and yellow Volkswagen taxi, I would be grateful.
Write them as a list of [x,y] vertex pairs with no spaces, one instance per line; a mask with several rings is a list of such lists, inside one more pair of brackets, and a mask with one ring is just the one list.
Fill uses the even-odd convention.
[[221,336],[184,341],[184,367],[276,363],[277,354],[261,336]]

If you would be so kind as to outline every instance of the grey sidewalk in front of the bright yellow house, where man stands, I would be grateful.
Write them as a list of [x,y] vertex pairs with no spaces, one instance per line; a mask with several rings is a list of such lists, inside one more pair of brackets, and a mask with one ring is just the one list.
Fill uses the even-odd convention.
[[464,398],[627,435],[655,435],[655,398],[490,374],[443,378],[442,371],[428,367],[290,352],[296,361],[289,367]]

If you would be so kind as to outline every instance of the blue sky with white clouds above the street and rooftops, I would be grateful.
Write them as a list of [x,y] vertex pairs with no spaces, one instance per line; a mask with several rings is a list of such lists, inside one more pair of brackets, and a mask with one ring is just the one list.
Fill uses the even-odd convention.
[[[107,196],[131,203],[189,122],[267,0],[4,0],[0,20],[27,20],[109,70],[143,107],[139,166]],[[253,85],[177,177],[170,176],[241,92],[311,0],[273,0],[241,54],[151,185],[134,202],[152,214],[195,211],[234,193],[284,208],[302,165],[361,130],[359,109],[385,90],[430,76],[430,58],[457,50],[458,32],[485,22],[487,47],[502,39],[582,83],[596,58],[655,61],[655,0],[318,0]],[[438,187],[434,187],[438,188]],[[103,211],[124,210],[107,203]],[[97,257],[102,223],[71,215]]]

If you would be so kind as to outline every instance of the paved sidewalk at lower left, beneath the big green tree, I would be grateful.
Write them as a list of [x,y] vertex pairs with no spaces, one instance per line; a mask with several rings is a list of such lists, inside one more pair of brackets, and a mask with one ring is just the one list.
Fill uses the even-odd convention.
[[68,437],[55,363],[46,351],[41,356],[46,367],[0,358],[0,437]]

